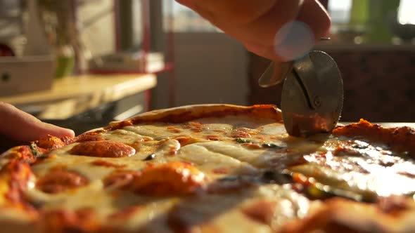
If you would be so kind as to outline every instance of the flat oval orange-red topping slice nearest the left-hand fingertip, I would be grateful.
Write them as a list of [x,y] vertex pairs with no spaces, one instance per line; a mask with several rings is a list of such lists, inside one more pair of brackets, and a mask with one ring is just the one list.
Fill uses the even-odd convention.
[[129,157],[136,153],[136,150],[129,145],[120,142],[96,141],[80,142],[70,149],[70,154],[86,155],[91,157]]

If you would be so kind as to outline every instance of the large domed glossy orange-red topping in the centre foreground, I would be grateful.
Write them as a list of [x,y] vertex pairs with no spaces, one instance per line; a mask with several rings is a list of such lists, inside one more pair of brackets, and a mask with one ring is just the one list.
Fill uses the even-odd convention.
[[149,166],[132,182],[131,189],[138,194],[175,196],[191,194],[203,187],[205,174],[194,166],[170,162]]

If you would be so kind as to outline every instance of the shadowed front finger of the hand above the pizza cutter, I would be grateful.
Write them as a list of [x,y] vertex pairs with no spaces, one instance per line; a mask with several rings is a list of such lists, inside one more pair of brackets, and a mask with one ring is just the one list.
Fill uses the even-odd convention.
[[245,44],[273,46],[278,29],[294,20],[300,0],[193,0],[191,6],[213,25]]

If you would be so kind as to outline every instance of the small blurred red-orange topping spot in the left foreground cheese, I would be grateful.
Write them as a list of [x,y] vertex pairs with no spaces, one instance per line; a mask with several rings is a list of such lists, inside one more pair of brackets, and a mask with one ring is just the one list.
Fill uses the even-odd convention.
[[88,185],[89,181],[72,171],[53,171],[37,180],[36,186],[43,192],[56,194]]

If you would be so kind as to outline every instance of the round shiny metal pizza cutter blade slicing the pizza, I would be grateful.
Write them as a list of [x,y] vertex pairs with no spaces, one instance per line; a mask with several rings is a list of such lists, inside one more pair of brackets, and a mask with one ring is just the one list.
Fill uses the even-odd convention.
[[299,137],[330,132],[342,107],[343,80],[333,58],[312,51],[293,62],[281,96],[288,134]]

